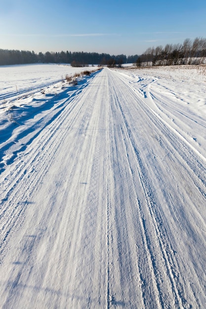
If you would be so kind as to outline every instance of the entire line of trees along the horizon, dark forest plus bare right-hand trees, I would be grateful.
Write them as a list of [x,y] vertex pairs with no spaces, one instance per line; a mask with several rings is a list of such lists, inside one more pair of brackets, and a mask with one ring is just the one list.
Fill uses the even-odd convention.
[[198,65],[206,63],[206,39],[185,39],[183,44],[166,44],[149,47],[140,56],[110,55],[96,52],[39,52],[28,50],[0,49],[0,65],[30,64],[30,63],[68,63],[74,67],[100,65],[121,67],[124,63],[135,63],[138,67]]

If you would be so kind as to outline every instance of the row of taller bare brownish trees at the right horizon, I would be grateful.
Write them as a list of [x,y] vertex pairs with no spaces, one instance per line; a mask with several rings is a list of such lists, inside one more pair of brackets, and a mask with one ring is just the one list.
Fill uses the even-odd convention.
[[185,39],[183,44],[149,47],[138,57],[137,67],[199,65],[206,63],[206,39]]

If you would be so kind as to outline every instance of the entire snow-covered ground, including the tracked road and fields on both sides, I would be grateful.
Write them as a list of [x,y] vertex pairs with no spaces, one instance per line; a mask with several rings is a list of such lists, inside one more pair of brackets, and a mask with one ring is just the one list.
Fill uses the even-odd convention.
[[0,67],[0,308],[206,308],[206,67]]

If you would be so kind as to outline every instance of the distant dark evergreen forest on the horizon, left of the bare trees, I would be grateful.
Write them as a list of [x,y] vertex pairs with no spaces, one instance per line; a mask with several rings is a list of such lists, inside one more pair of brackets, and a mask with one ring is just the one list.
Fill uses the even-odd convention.
[[28,50],[8,50],[0,49],[0,65],[14,65],[14,64],[30,64],[30,63],[68,63],[73,66],[85,66],[86,64],[97,65],[118,65],[124,63],[134,63],[137,60],[137,55],[110,55],[107,53],[96,52],[39,52]]

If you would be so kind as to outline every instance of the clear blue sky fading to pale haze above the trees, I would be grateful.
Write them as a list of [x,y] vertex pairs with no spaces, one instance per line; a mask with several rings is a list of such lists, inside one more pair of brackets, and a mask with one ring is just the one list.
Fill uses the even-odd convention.
[[141,54],[206,38],[206,0],[0,0],[0,48]]

